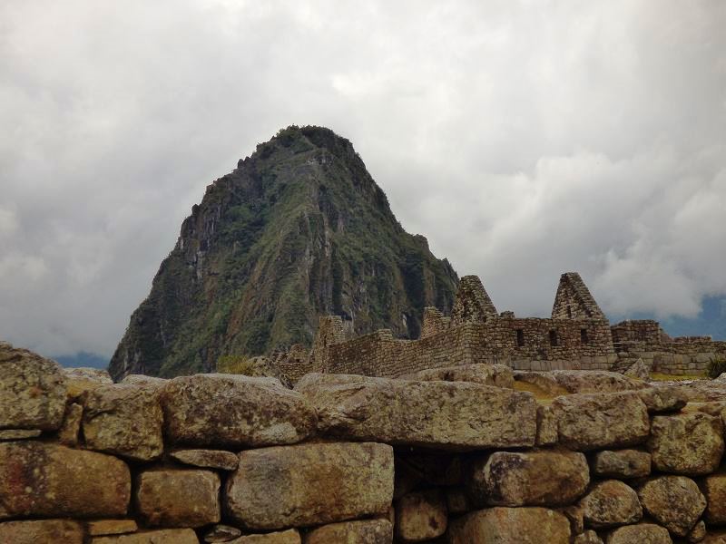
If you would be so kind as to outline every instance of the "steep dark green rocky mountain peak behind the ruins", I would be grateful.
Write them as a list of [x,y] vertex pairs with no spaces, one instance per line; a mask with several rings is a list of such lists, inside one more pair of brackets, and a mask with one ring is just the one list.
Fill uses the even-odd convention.
[[292,126],[207,187],[109,370],[210,372],[221,355],[310,345],[331,314],[351,333],[415,338],[424,306],[448,311],[457,281],[404,231],[348,140]]

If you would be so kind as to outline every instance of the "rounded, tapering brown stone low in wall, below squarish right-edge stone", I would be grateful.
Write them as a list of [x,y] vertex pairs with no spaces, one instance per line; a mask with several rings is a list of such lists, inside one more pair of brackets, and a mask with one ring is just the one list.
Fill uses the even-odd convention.
[[643,508],[674,535],[685,537],[701,518],[706,499],[685,476],[660,476],[638,491]]

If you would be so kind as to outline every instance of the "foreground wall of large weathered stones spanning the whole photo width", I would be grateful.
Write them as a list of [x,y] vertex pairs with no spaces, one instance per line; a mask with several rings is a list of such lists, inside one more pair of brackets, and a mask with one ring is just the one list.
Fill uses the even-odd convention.
[[484,364],[112,384],[0,344],[0,542],[726,543],[726,382],[540,375],[565,394]]

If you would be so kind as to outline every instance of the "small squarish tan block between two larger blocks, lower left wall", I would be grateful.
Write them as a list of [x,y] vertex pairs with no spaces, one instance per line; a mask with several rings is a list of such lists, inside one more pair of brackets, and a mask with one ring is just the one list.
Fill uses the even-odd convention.
[[156,527],[202,527],[220,520],[220,477],[212,471],[152,469],[136,480],[136,508]]

